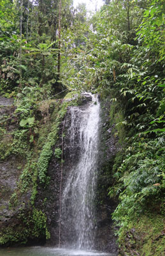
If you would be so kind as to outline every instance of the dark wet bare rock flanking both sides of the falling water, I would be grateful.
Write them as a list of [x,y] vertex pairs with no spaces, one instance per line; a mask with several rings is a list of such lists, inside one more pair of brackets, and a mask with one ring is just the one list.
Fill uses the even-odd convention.
[[[85,99],[86,100],[86,99]],[[90,97],[89,97],[90,100]],[[87,102],[89,102],[89,100]],[[87,104],[83,104],[83,106],[78,107],[81,109],[87,108]],[[71,108],[71,107],[69,107]],[[59,132],[59,141],[55,145],[55,148],[62,148],[62,129],[64,128],[64,152],[63,152],[63,170],[62,170],[62,191],[65,188],[66,179],[69,175],[69,170],[73,168],[73,166],[78,161],[78,156],[80,154],[80,141],[78,136],[78,124],[76,125],[75,129],[75,139],[71,143],[70,138],[70,127],[71,127],[71,112],[69,111],[66,117],[66,122],[61,124],[60,132]],[[108,126],[108,114],[105,115],[103,113],[105,120],[101,123],[101,144],[100,144],[100,164],[99,169],[101,169],[101,173],[99,173],[99,180],[98,183],[103,184],[104,186],[104,179],[103,176],[105,175],[104,166],[106,165],[109,159],[113,159],[115,156],[116,148],[116,139],[113,137],[111,130],[106,129]],[[78,120],[78,116],[77,116]],[[111,128],[112,129],[112,128]],[[103,154],[106,154],[106,160],[103,157]],[[108,160],[107,160],[108,159]],[[105,163],[105,164],[103,164]],[[52,156],[52,159],[49,164],[48,168],[48,175],[50,176],[50,184],[48,188],[41,189],[38,196],[41,198],[47,198],[45,204],[45,213],[47,214],[48,220],[48,230],[50,231],[51,238],[48,241],[48,244],[53,244],[55,246],[59,245],[59,198],[60,198],[60,183],[61,183],[61,159],[57,159],[55,156]],[[110,173],[108,176],[110,179]],[[108,183],[106,186],[110,186]],[[99,193],[99,192],[97,192]],[[114,236],[114,232],[116,230],[113,227],[113,221],[111,220],[111,213],[115,210],[117,206],[117,202],[110,200],[107,197],[107,188],[103,191],[104,193],[104,200],[103,198],[97,198],[97,200],[103,200],[102,204],[97,204],[97,235],[96,235],[96,250],[106,251],[106,252],[117,252],[117,244],[116,244],[116,237]],[[42,195],[41,195],[42,194]],[[39,200],[38,200],[39,203]],[[75,234],[73,234],[75,235]],[[67,230],[64,225],[61,225],[61,244],[66,244],[66,240],[68,240]],[[66,239],[67,237],[67,239]],[[70,237],[70,241],[72,242],[72,238]]]

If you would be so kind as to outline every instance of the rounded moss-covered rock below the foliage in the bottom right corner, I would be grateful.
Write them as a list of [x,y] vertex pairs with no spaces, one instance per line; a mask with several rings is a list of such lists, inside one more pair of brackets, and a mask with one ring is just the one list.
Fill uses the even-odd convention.
[[118,243],[121,256],[163,256],[165,223],[161,214],[147,214],[122,228]]

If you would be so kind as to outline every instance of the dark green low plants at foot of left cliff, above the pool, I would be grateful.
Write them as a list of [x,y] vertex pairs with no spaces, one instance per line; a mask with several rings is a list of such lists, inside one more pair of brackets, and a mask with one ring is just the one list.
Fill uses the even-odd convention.
[[13,215],[0,230],[0,244],[26,244],[28,241],[45,241],[50,237],[47,216],[38,209],[21,210]]

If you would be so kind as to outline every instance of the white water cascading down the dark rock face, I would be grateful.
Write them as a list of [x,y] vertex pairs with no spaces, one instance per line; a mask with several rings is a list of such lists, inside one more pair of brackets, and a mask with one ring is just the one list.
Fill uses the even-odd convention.
[[96,95],[91,97],[92,102],[88,106],[74,106],[69,110],[69,147],[79,150],[62,194],[62,226],[67,230],[71,246],[85,249],[94,247],[96,232],[94,204],[100,105]]

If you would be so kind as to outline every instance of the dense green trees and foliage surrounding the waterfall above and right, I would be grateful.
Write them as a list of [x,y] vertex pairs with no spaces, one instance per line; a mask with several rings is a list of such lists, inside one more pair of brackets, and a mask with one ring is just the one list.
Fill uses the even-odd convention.
[[[113,186],[107,193],[119,200],[113,220],[120,227],[121,253],[132,255],[131,247],[122,246],[131,228],[143,233],[142,223],[146,221],[147,225],[154,225],[154,231],[149,230],[147,236],[155,237],[155,241],[162,236],[165,3],[163,0],[104,1],[101,11],[89,19],[84,4],[75,10],[71,0],[62,0],[59,38],[59,2],[0,0],[0,93],[15,99],[15,113],[21,112],[17,117],[20,127],[10,134],[12,147],[4,141],[0,154],[5,159],[10,154],[24,154],[25,148],[29,148],[20,183],[22,189],[29,186],[26,184],[29,170],[34,170],[34,203],[36,179],[48,182],[47,166],[57,135],[54,130],[57,131],[66,109],[64,106],[57,110],[61,111],[56,113],[61,118],[57,117],[49,128],[48,140],[45,145],[40,143],[41,154],[36,154],[35,140],[41,138],[36,118],[39,102],[48,102],[66,89],[100,93],[102,99],[111,102],[109,125],[115,124],[113,134],[118,139],[111,173]],[[64,93],[57,97],[64,97]],[[43,101],[40,109],[46,113],[47,103]],[[1,124],[2,138],[5,124]],[[34,161],[28,160],[31,156]],[[157,251],[152,246],[152,241],[139,243],[136,252],[162,255],[163,244]]]

